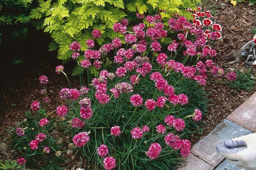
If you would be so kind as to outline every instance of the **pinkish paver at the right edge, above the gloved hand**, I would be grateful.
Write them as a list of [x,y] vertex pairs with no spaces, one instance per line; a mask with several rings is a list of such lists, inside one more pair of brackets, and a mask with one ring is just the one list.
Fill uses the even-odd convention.
[[253,132],[256,131],[256,92],[228,117],[228,120],[237,123]]

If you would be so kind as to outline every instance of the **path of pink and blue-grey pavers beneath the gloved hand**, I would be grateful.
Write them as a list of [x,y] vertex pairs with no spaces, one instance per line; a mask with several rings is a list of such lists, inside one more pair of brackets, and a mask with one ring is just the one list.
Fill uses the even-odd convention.
[[178,170],[241,170],[220,155],[215,146],[226,139],[256,132],[256,92],[191,149],[192,154]]

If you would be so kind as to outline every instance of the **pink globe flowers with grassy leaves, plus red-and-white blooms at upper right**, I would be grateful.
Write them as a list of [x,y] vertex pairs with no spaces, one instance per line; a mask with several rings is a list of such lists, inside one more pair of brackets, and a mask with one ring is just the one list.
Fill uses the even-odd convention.
[[[224,75],[223,69],[211,60],[217,53],[209,46],[221,38],[222,27],[211,21],[209,11],[197,9],[187,9],[194,17],[192,21],[175,15],[168,20],[168,25],[164,25],[164,19],[156,14],[145,17],[144,23],[133,26],[132,30],[127,29],[128,20],[122,19],[113,26],[117,38],[98,50],[95,39],[101,37],[101,32],[95,29],[93,39],[86,42],[88,49],[83,53],[84,58],[81,58],[81,44],[71,43],[72,58],[78,66],[85,68],[86,76],[92,78],[87,70],[91,67],[99,71],[99,75],[80,90],[72,88],[70,83],[70,88],[60,90],[63,104],[52,112],[56,113],[52,120],[45,117],[38,121],[42,132],[38,131],[35,139],[28,142],[29,149],[43,149],[45,153],[55,151],[55,156],[61,156],[61,151],[41,143],[51,138],[45,126],[54,121],[66,121],[69,127],[63,133],[67,135],[70,131],[69,135],[73,134],[70,142],[75,146],[73,150],[69,147],[67,154],[82,147],[80,151],[86,155],[85,159],[102,161],[93,163],[103,165],[107,170],[126,169],[122,165],[127,160],[130,162],[124,165],[133,167],[138,161],[147,166],[147,161],[160,159],[161,155],[173,153],[177,158],[180,153],[180,156],[189,156],[190,141],[182,139],[185,120],[190,123],[199,121],[202,113],[199,108],[190,108],[190,113],[185,114],[178,114],[184,112],[182,109],[172,110],[178,106],[186,107],[190,102],[186,94],[176,92],[173,77],[190,79],[200,87],[206,85],[208,77]],[[105,66],[104,59],[113,53],[113,66]],[[56,72],[66,76],[64,66],[57,66]],[[230,80],[235,79],[234,73],[227,76]],[[83,79],[82,74],[80,78]],[[48,83],[46,76],[40,76],[39,80],[43,86]],[[153,87],[146,89],[145,84]],[[153,89],[152,93],[145,93],[148,88]],[[46,97],[45,102],[49,101],[46,91],[46,88],[40,91]],[[31,109],[38,111],[40,102],[34,101]],[[16,132],[19,136],[26,134],[21,127],[17,127]],[[121,146],[126,148],[119,150]],[[88,148],[92,150],[86,151]],[[133,159],[134,154],[140,158]],[[20,158],[18,162],[23,165],[26,160]],[[159,167],[158,162],[155,163]]]

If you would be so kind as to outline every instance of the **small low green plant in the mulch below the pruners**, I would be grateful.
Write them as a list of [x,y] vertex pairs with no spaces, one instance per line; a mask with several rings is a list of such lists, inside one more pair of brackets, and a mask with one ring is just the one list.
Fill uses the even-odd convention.
[[237,78],[235,81],[229,81],[228,86],[235,90],[235,92],[239,90],[252,90],[255,88],[256,80],[255,80],[255,71],[250,69],[247,73],[236,71]]

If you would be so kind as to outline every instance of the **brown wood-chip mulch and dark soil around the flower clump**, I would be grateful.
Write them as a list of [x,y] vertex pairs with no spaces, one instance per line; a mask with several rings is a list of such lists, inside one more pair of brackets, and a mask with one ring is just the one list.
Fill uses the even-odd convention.
[[[218,57],[214,62],[218,66],[224,68],[225,71],[242,69],[243,64],[236,64],[235,66],[225,65],[222,60],[227,54],[233,50],[237,50],[240,46],[247,43],[253,35],[251,35],[250,28],[256,26],[255,6],[249,7],[248,4],[238,3],[235,7],[225,0],[218,0],[215,7],[211,10],[214,14],[213,20],[223,26],[223,38],[214,45],[218,52]],[[29,49],[17,51],[15,46],[0,46],[0,50],[6,53],[3,56],[24,56],[24,64],[21,66],[14,66],[11,60],[5,60],[3,66],[0,68],[0,159],[11,158],[12,152],[7,149],[7,146],[2,143],[5,139],[6,130],[13,127],[17,121],[24,118],[24,113],[29,109],[31,101],[40,99],[42,95],[39,93],[40,87],[38,76],[47,75],[50,89],[50,102],[47,103],[49,110],[55,109],[59,103],[58,92],[62,87],[68,87],[66,79],[63,75],[55,73],[55,67],[61,64],[61,61],[56,59],[56,52],[47,52],[47,44],[50,43],[50,36],[47,33],[39,32],[40,35],[34,39],[35,33],[38,33],[35,28],[31,27],[28,37],[24,40],[24,44],[29,43]],[[46,42],[38,43],[40,40]],[[46,44],[46,46],[41,46]],[[20,47],[17,47],[20,49]],[[28,48],[28,47],[27,47]],[[7,49],[7,50],[6,50]],[[26,52],[25,52],[26,51]],[[35,63],[37,63],[35,65]],[[65,70],[68,75],[71,75],[71,68],[74,63],[65,65]],[[68,71],[69,70],[69,71]],[[78,84],[75,77],[71,77],[73,84]],[[191,139],[192,143],[196,143],[199,139],[207,135],[211,130],[226,118],[232,111],[248,99],[255,91],[242,90],[234,92],[226,85],[214,83],[218,78],[211,78],[206,85],[206,90],[209,92],[209,109],[208,113],[202,119],[204,123],[204,131],[202,134],[194,134]]]

